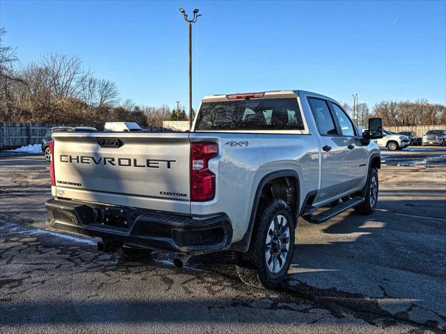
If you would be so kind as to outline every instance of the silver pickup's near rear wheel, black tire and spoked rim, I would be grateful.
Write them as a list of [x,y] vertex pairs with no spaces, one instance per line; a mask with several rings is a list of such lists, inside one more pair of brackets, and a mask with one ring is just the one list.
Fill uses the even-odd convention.
[[[283,218],[279,217],[279,221],[278,216]],[[274,226],[274,231],[270,229],[271,226]],[[286,234],[286,226],[288,226],[288,234]],[[245,284],[254,287],[266,289],[280,287],[288,276],[293,257],[294,230],[295,218],[284,200],[261,203],[256,213],[249,250],[241,255],[236,265],[240,279]],[[267,236],[270,238],[269,242]],[[286,255],[285,261],[283,255]],[[273,268],[271,269],[270,266]]]

